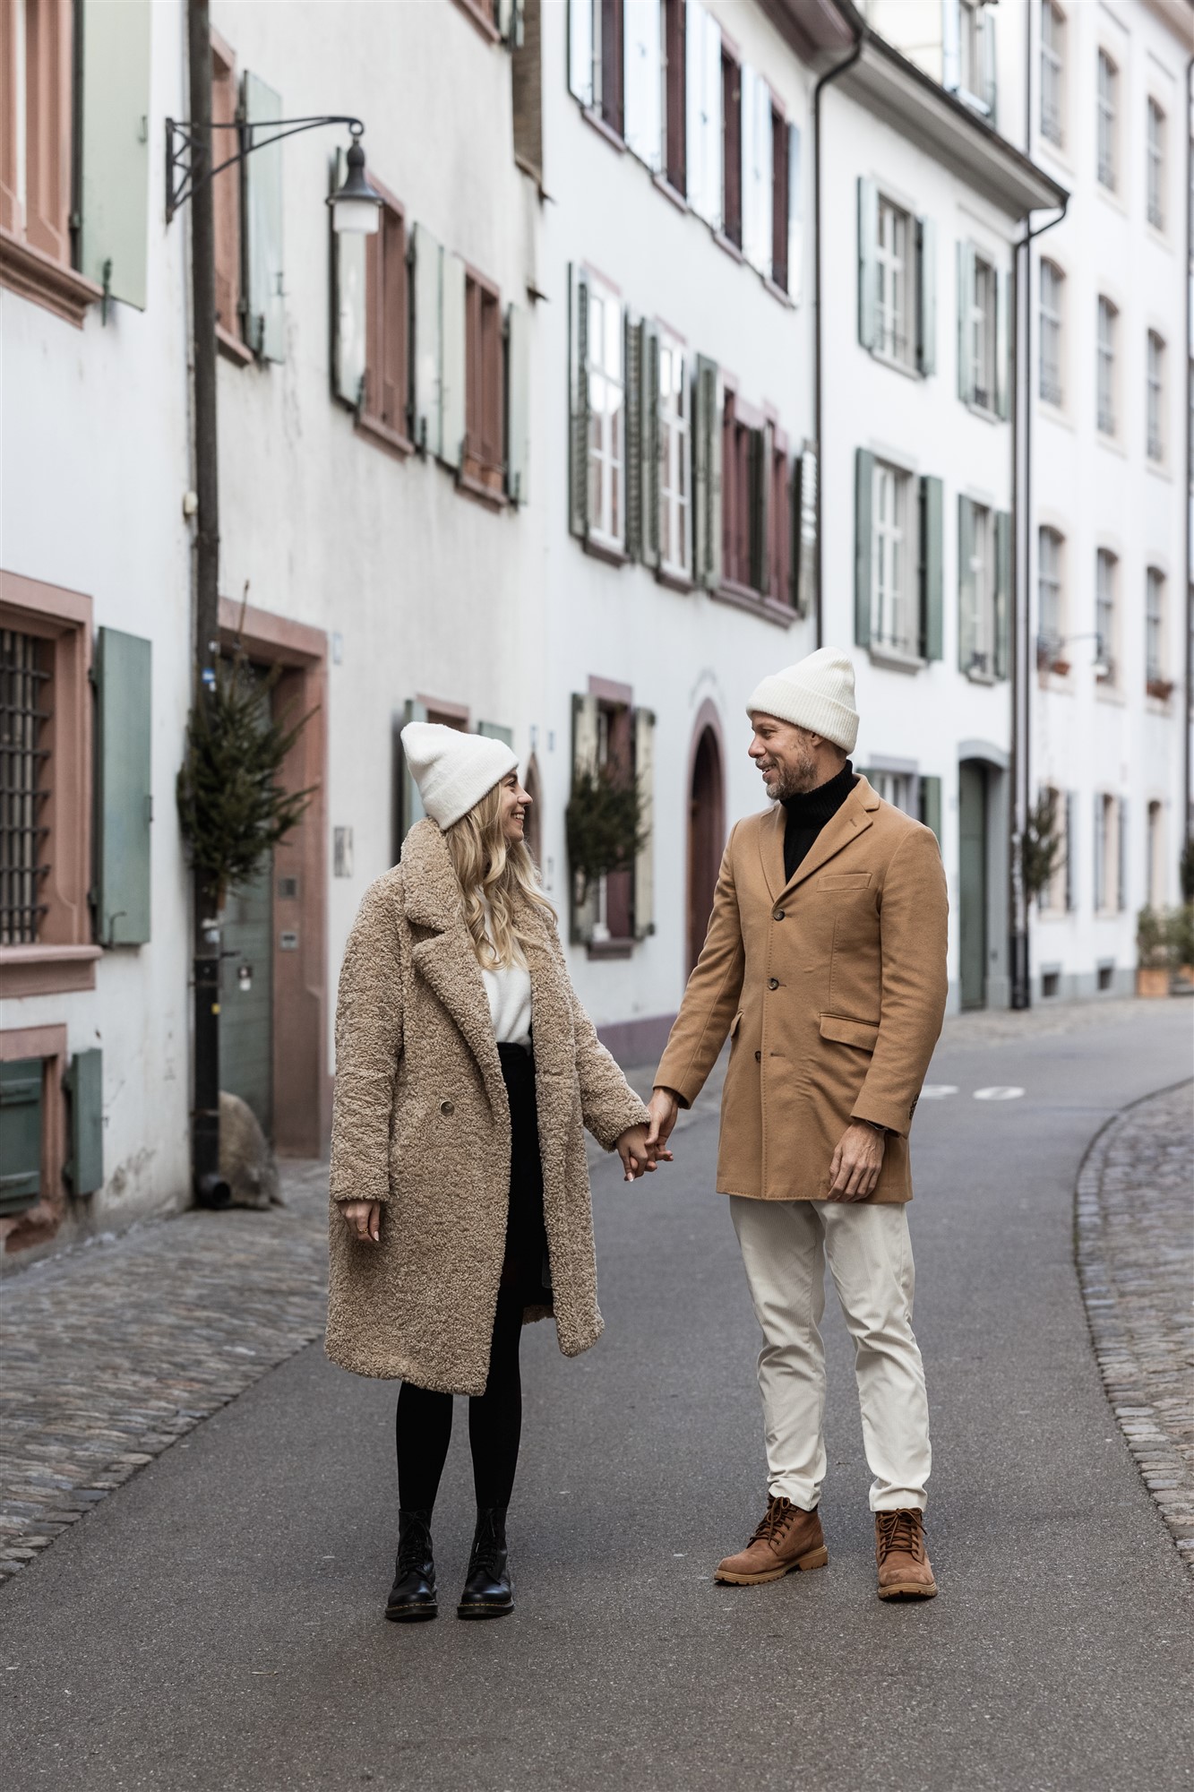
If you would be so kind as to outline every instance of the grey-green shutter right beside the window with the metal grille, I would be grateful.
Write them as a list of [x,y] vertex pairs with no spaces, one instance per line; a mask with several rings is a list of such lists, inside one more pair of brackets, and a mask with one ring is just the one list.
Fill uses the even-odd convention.
[[151,937],[151,642],[100,629],[95,685],[95,934],[102,946],[142,946]]

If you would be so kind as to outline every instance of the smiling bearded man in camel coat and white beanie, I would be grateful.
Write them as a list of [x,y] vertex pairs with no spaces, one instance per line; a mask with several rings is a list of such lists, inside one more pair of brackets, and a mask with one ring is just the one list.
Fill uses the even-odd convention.
[[929,1409],[913,1335],[907,1133],[945,1012],[945,873],[929,828],[848,760],[853,667],[821,647],[748,702],[771,812],[730,835],[701,959],[651,1098],[667,1154],[730,1034],[717,1190],[755,1315],[767,1511],[717,1579],[778,1581],[826,1559],[825,1263],[855,1346],[880,1598],[932,1598]]

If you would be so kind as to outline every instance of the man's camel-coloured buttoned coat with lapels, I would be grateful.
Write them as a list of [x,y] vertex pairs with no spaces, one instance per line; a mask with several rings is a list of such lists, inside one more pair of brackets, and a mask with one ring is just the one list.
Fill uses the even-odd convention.
[[857,785],[789,880],[782,805],[730,835],[705,948],[656,1072],[688,1107],[726,1034],[717,1190],[825,1201],[852,1120],[889,1127],[870,1201],[911,1201],[907,1133],[945,1016],[934,833]]

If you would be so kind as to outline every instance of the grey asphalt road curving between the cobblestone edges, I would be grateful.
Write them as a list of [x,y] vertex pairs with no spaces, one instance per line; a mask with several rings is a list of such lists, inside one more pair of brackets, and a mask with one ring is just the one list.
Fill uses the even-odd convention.
[[[606,1337],[523,1344],[518,1609],[450,1615],[466,1426],[436,1543],[448,1615],[389,1625],[393,1387],[310,1348],[152,1462],[0,1598],[7,1792],[810,1788],[1120,1792],[1194,1781],[1190,1577],[1095,1371],[1072,1260],[1081,1154],[1189,1075],[1190,1009],[950,1043],[921,1104],[916,1330],[941,1595],[875,1598],[848,1340],[830,1294],[830,1566],[715,1588],[764,1455],[717,1122],[595,1177]],[[1009,1100],[973,1091],[1018,1086]],[[443,1609],[443,1607],[441,1607]]]

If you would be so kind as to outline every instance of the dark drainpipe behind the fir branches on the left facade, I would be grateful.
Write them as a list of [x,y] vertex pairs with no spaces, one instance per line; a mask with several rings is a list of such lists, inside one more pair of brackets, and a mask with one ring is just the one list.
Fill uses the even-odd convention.
[[[212,18],[208,0],[188,0],[186,59],[190,66],[192,168],[190,285],[192,285],[192,378],[195,428],[195,690],[194,702],[206,702],[219,652],[219,455],[215,435],[215,211],[212,181]],[[215,925],[215,891],[194,874],[194,1109],[190,1133],[192,1192],[201,1206],[226,1206],[228,1185],[221,1181],[221,943]]]

